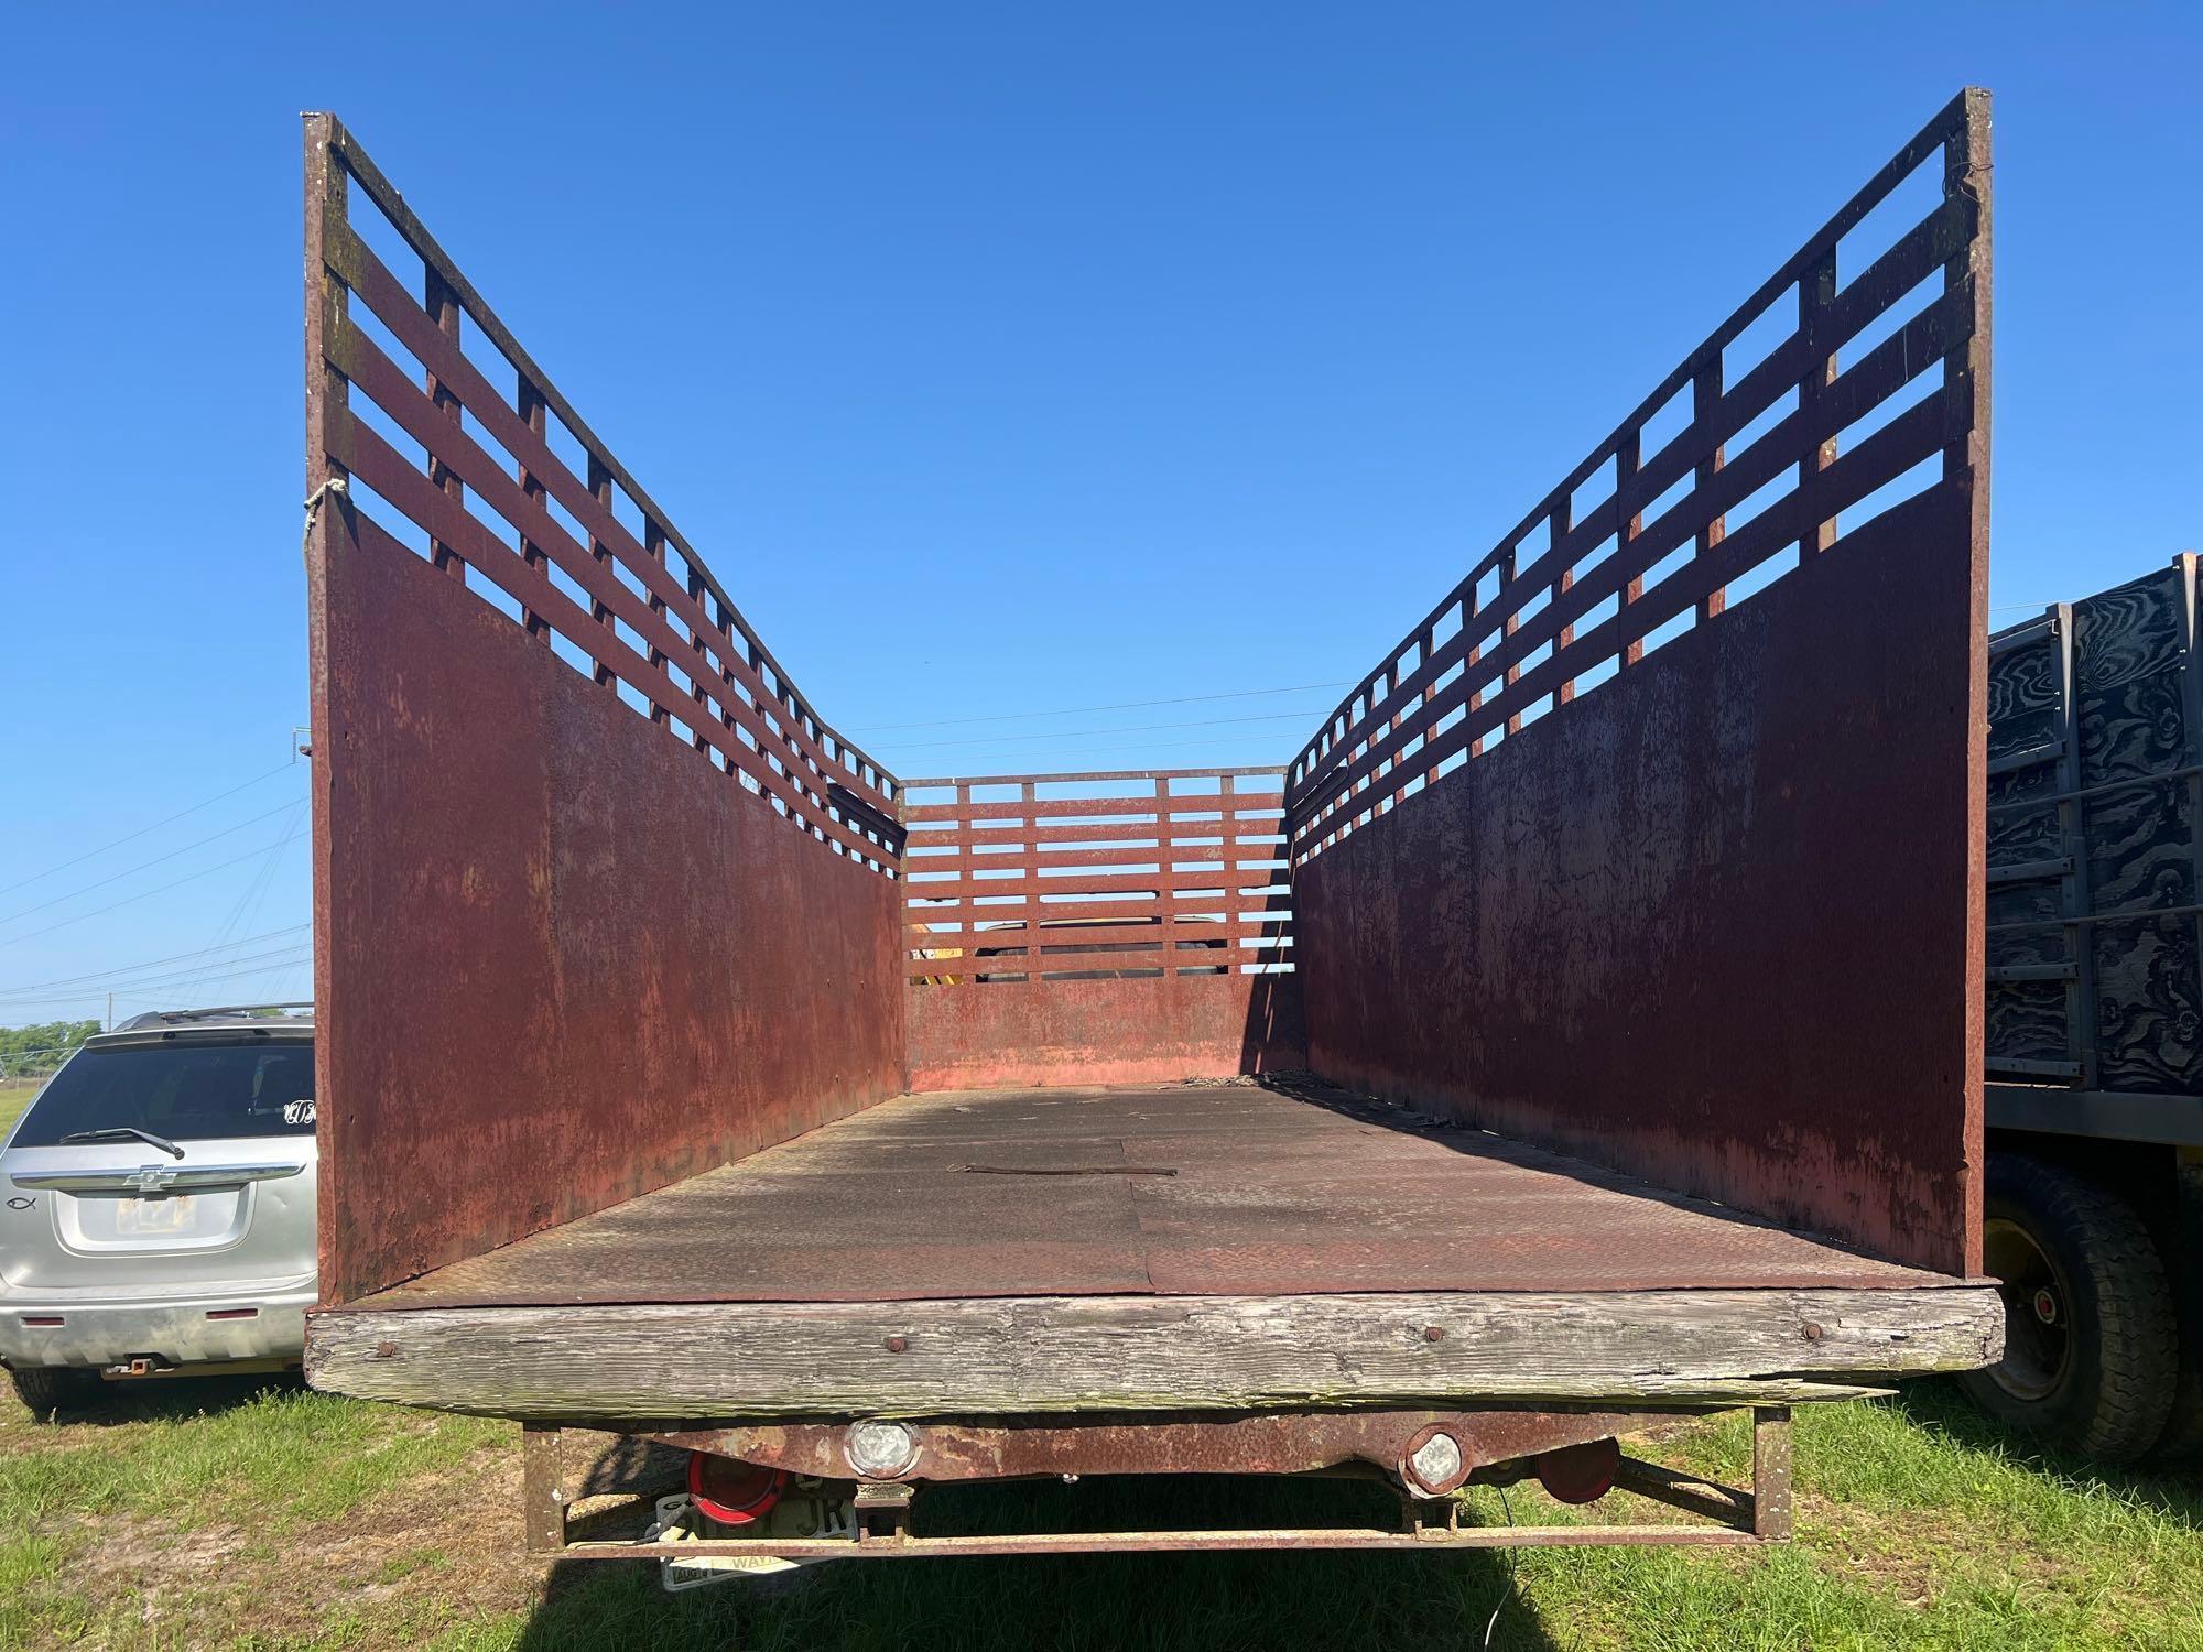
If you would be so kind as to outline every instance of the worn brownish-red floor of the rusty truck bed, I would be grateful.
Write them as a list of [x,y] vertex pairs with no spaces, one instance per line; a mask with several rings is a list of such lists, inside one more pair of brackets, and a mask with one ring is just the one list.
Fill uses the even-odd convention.
[[357,1308],[1950,1286],[1342,1093],[905,1095]]

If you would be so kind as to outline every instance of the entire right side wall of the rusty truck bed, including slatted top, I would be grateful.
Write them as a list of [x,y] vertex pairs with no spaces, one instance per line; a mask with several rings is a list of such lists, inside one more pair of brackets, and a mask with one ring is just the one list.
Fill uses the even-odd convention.
[[1987,187],[1965,93],[1300,753],[1320,1073],[1978,1269]]

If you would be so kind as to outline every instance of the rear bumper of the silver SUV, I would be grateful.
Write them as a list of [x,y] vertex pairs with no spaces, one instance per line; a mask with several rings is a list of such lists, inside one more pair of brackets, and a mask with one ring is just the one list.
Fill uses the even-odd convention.
[[[156,1357],[172,1366],[231,1359],[295,1361],[306,1346],[315,1291],[170,1297],[163,1302],[42,1306],[11,1295],[0,1308],[0,1363],[119,1366]],[[57,1324],[42,1324],[57,1322]]]

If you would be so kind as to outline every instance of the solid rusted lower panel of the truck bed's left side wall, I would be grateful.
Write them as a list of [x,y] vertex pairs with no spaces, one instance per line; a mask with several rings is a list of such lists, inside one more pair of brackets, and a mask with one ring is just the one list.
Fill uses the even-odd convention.
[[[324,568],[324,1300],[901,1090],[894,881],[361,526]],[[388,716],[392,674],[467,714]]]

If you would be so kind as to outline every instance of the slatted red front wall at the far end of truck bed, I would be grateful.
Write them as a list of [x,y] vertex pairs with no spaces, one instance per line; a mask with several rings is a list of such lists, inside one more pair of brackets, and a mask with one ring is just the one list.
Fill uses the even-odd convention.
[[1280,804],[1276,769],[905,782],[912,1088],[1302,1066]]

